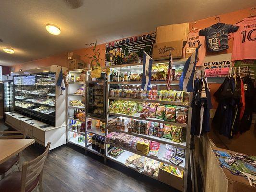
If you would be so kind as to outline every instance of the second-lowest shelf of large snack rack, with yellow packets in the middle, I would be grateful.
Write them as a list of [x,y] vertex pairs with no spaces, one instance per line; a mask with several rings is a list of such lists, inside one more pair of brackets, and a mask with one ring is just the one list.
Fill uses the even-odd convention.
[[[147,158],[184,169],[185,158],[174,156],[176,148],[128,134],[111,132],[106,143]],[[175,164],[174,164],[175,163]]]

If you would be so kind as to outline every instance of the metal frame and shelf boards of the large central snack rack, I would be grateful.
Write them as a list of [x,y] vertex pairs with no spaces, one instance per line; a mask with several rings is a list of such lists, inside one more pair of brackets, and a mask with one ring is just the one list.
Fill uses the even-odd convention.
[[[184,66],[185,61],[186,61],[186,59],[174,59],[173,60],[173,67],[175,68],[175,67]],[[167,64],[168,65],[168,60],[154,61],[153,65],[154,64]],[[124,64],[124,65],[113,65],[113,66],[109,66],[109,67],[110,67],[110,70],[116,70],[118,72],[142,72],[143,64],[142,63],[132,63],[132,64]],[[174,185],[174,187],[178,188],[180,190],[186,191],[187,177],[188,177],[188,166],[189,166],[188,163],[189,163],[189,144],[190,144],[190,124],[191,124],[191,116],[192,116],[192,108],[190,108],[189,103],[191,102],[193,93],[189,93],[189,102],[160,101],[160,100],[151,100],[151,99],[110,97],[109,96],[109,90],[110,90],[110,85],[111,84],[123,84],[123,85],[130,84],[130,85],[139,85],[140,86],[141,81],[110,82],[109,79],[108,79],[108,81],[107,81],[107,94],[106,94],[106,97],[107,97],[107,102],[106,102],[107,121],[110,119],[111,116],[116,116],[116,117],[127,117],[127,118],[136,119],[136,120],[145,120],[145,121],[151,121],[151,122],[158,122],[158,123],[163,123],[163,124],[181,126],[181,127],[186,129],[186,137],[185,137],[185,141],[183,143],[178,143],[178,142],[171,141],[170,139],[166,139],[166,138],[158,138],[158,137],[144,135],[144,134],[137,134],[137,133],[134,133],[134,132],[128,132],[127,130],[125,130],[125,131],[116,130],[117,132],[129,134],[129,135],[133,135],[133,136],[136,136],[136,137],[141,137],[141,138],[145,138],[145,139],[149,139],[151,141],[156,141],[156,142],[161,143],[161,146],[160,146],[160,149],[159,149],[159,152],[158,152],[158,157],[148,156],[148,155],[143,154],[141,152],[118,146],[119,148],[122,148],[123,150],[125,150],[125,152],[122,153],[122,155],[116,159],[116,158],[113,158],[112,156],[109,156],[107,150],[105,150],[106,158],[127,167],[127,165],[126,165],[127,157],[131,156],[132,154],[138,154],[138,155],[145,156],[147,158],[154,159],[156,161],[159,161],[159,162],[162,162],[162,163],[165,163],[165,164],[169,164],[169,165],[174,166],[176,168],[180,168],[180,169],[184,170],[183,179],[174,176],[176,178],[174,178],[174,180],[171,181],[171,182],[176,182],[176,179],[178,178],[180,186],[177,187],[177,185],[176,186]],[[171,81],[171,89],[179,90],[178,84],[179,84],[179,81]],[[166,81],[151,81],[151,85],[166,86]],[[161,119],[157,119],[157,118],[142,118],[142,117],[140,117],[140,115],[138,113],[136,113],[134,115],[126,115],[126,114],[121,114],[121,113],[109,112],[110,100],[125,100],[125,101],[150,102],[150,103],[160,103],[160,104],[168,104],[168,105],[187,106],[188,107],[187,124],[170,122],[170,121],[161,120]],[[107,134],[108,134],[108,130],[106,130],[106,135]],[[165,150],[164,144],[169,144],[169,145],[173,145],[173,146],[185,149],[185,158],[181,158],[183,160],[183,162],[181,164],[175,165],[175,164],[172,164],[170,161],[162,158],[164,156],[164,153],[165,153],[164,152],[164,150]],[[105,146],[105,148],[107,148],[107,145]],[[132,164],[129,166],[129,168],[134,169],[134,170],[137,171],[136,167]],[[147,176],[149,176],[149,175],[147,175]],[[152,176],[149,176],[149,177],[152,177]],[[155,178],[155,177],[152,177],[152,178],[159,180],[158,178]],[[160,181],[165,182],[164,180],[160,180]],[[165,182],[165,183],[167,183],[167,182]],[[172,185],[172,184],[170,184],[170,181],[167,184]]]

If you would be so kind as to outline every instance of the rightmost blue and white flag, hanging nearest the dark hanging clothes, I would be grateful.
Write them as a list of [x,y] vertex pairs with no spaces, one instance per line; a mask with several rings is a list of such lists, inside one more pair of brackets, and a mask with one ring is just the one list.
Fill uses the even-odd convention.
[[201,45],[199,45],[193,54],[187,59],[182,76],[180,78],[180,90],[186,92],[193,92],[193,82],[194,82],[194,73],[195,73],[195,65],[197,63],[197,55],[198,50]]

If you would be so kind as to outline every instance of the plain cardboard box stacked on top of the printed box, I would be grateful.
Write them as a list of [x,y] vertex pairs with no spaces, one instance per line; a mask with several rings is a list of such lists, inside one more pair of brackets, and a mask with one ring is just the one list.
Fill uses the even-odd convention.
[[171,24],[157,27],[156,43],[187,40],[189,23]]

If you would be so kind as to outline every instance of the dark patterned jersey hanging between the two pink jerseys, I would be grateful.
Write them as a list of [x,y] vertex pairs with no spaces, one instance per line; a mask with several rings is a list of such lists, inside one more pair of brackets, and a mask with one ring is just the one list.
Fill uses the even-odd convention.
[[228,34],[237,31],[239,27],[232,24],[217,23],[199,31],[200,36],[206,37],[209,51],[222,51],[229,48]]

